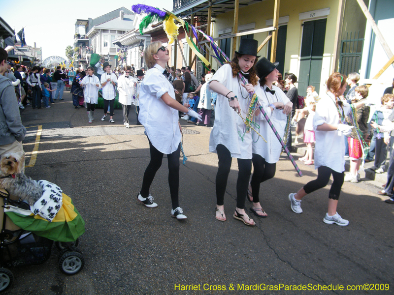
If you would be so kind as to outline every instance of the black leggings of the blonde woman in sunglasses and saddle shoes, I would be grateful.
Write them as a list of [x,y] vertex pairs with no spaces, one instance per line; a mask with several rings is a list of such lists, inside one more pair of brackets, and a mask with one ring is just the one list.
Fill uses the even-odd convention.
[[[142,188],[140,194],[142,197],[147,198],[149,195],[149,188],[155,178],[156,172],[162,166],[163,153],[158,151],[149,140],[149,149],[151,152],[151,161],[146,167],[144,178],[142,180]],[[168,184],[169,192],[171,195],[172,209],[179,207],[178,191],[179,191],[179,156],[181,154],[181,144],[178,149],[167,155],[168,159]]]

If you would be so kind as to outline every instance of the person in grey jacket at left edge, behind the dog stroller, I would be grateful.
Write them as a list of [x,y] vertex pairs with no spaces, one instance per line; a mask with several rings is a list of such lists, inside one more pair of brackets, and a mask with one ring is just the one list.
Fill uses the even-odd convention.
[[4,77],[7,52],[0,47],[0,157],[6,152],[23,151],[26,128],[22,125],[18,100],[11,80]]

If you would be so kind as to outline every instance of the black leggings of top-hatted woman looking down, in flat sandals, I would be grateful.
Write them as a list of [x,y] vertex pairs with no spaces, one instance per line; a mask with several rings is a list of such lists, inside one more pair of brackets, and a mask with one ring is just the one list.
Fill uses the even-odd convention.
[[[219,159],[218,173],[216,174],[216,204],[224,205],[227,179],[231,168],[231,153],[224,145],[216,147]],[[245,197],[248,191],[249,177],[252,171],[252,159],[237,159],[238,179],[237,179],[237,208],[245,207]]]

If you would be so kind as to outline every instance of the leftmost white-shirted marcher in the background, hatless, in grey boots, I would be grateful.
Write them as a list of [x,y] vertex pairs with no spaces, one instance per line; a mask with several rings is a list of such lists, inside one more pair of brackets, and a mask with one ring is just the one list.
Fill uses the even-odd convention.
[[90,66],[86,70],[87,75],[81,81],[81,86],[85,87],[83,92],[85,96],[86,109],[88,113],[89,123],[94,120],[95,106],[99,100],[99,89],[100,81],[97,76],[95,76],[95,69]]

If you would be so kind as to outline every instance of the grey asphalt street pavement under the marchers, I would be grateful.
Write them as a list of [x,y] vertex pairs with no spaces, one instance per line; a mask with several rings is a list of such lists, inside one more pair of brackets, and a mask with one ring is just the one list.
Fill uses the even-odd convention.
[[[394,206],[375,194],[378,187],[367,181],[344,183],[338,213],[349,226],[328,225],[322,219],[329,186],[304,198],[302,214],[291,210],[289,193],[315,179],[317,171],[297,161],[304,175],[298,177],[282,155],[276,176],[260,191],[268,217],[254,216],[246,201],[257,223],[248,227],[232,217],[238,174],[234,160],[225,196],[227,221],[219,222],[218,160],[208,150],[211,128],[181,120],[188,160],[180,167],[179,199],[188,219],[177,221],[170,216],[165,157],[150,191],[159,207],[146,208],[136,200],[150,157],[134,110],[130,129],[123,126],[121,110],[115,110],[115,124],[109,117],[101,121],[99,109],[88,124],[86,110],[74,109],[69,92],[64,98],[48,109],[29,106],[22,111],[28,130],[25,173],[56,183],[73,200],[86,222],[78,246],[85,267],[73,276],[63,274],[53,246],[42,265],[10,268],[15,280],[5,294],[394,294]],[[345,289],[389,284],[390,289],[322,290],[337,284]],[[267,285],[281,290],[264,290]],[[315,289],[285,291],[289,285]],[[371,286],[364,285],[384,285]]]

